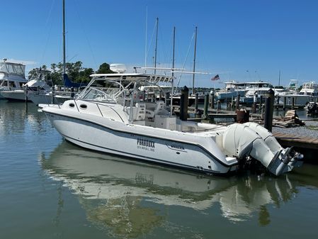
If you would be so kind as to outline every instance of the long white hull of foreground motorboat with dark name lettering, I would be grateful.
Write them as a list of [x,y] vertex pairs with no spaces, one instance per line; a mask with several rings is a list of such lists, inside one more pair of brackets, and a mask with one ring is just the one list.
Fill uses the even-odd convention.
[[237,164],[226,165],[195,143],[130,133],[134,130],[129,128],[134,126],[125,123],[125,129],[118,131],[82,118],[45,113],[66,140],[83,148],[207,174],[227,174],[237,169]]

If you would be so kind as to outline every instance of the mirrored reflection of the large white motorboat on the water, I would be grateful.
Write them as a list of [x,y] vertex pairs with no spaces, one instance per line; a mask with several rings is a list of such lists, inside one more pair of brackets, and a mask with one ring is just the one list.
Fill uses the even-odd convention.
[[220,206],[222,216],[235,223],[259,213],[264,226],[271,223],[266,206],[278,207],[297,193],[288,174],[208,177],[91,152],[66,141],[40,162],[52,179],[79,196],[89,221],[117,236],[136,237],[162,226],[169,206],[203,213],[218,213]]

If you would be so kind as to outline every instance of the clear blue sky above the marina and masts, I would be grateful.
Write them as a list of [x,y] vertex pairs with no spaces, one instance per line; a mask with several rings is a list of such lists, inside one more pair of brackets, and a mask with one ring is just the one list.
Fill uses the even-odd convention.
[[[23,60],[28,70],[62,61],[62,0],[3,1],[1,9],[1,58]],[[279,71],[283,85],[317,80],[317,9],[315,0],[66,0],[67,60],[94,70],[103,62],[144,66],[147,12],[148,66],[157,17],[161,67],[171,67],[175,26],[176,67],[192,70],[198,26],[196,71],[211,75],[196,76],[196,86],[232,79],[278,85]],[[215,74],[221,79],[211,82]],[[191,82],[181,78],[182,86]]]

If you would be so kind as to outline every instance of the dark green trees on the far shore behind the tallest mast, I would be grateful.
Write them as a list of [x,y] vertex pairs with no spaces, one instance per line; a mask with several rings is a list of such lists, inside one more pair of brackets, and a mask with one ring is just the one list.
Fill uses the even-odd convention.
[[[115,73],[110,70],[110,65],[106,62],[101,64],[96,72],[93,71],[92,68],[82,67],[83,63],[81,61],[77,62],[67,62],[65,64],[65,71],[69,76],[69,79],[72,82],[81,82],[81,83],[88,83],[91,78],[89,77],[91,74],[108,74],[108,73]],[[30,70],[28,73],[28,78],[31,79],[35,71],[43,71],[47,74],[47,81],[52,82],[53,85],[63,85],[62,73],[63,73],[63,64],[62,62],[59,63],[52,63],[50,70],[47,68],[46,65],[42,65],[40,68],[34,68]]]

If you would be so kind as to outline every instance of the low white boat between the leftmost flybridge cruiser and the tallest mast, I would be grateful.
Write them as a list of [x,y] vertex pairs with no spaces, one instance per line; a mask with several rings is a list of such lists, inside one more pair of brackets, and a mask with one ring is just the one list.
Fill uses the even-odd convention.
[[[32,77],[21,89],[1,91],[1,94],[9,101],[25,101],[26,99],[30,101],[29,97],[31,94],[40,94],[42,91],[47,92],[50,90],[50,86],[47,84],[47,74],[49,73],[50,71],[35,70]],[[26,94],[28,94],[28,98],[25,97]]]

